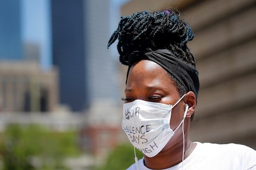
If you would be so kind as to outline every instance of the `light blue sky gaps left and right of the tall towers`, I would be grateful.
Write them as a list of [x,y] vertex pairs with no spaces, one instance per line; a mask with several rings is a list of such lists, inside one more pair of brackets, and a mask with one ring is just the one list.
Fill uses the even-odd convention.
[[[111,32],[120,20],[118,8],[129,0],[110,0]],[[40,65],[43,70],[51,68],[51,0],[21,0],[21,34],[23,41],[40,46]],[[110,33],[111,34],[111,33]]]

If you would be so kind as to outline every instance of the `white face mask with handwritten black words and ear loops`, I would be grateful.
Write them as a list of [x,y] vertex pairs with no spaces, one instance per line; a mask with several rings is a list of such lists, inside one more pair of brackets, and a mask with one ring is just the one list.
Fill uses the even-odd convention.
[[122,127],[132,145],[150,158],[161,152],[186,117],[188,107],[179,126],[176,130],[171,130],[171,109],[176,104],[168,105],[143,100],[125,103]]

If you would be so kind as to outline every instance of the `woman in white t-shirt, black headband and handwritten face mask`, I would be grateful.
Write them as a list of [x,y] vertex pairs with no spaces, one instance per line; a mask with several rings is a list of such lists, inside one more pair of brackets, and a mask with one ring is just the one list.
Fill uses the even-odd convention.
[[143,153],[128,169],[256,169],[249,147],[189,139],[199,80],[186,46],[193,33],[177,12],[121,17],[108,47],[117,39],[120,62],[128,65],[122,127]]

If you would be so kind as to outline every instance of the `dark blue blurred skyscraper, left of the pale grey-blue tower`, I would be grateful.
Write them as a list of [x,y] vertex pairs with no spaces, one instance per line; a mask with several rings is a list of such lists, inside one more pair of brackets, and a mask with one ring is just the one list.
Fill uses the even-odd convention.
[[60,73],[60,102],[81,111],[88,105],[83,0],[51,1],[51,12],[52,62]]

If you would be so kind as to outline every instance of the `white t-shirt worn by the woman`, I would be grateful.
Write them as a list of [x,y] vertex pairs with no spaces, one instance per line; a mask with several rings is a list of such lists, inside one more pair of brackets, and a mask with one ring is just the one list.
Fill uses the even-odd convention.
[[[183,161],[183,170],[256,170],[256,150],[250,147],[233,143],[196,144],[191,155]],[[146,168],[143,158],[138,163],[139,170],[152,170]],[[136,165],[127,170],[136,170]],[[182,170],[182,162],[163,170]]]

